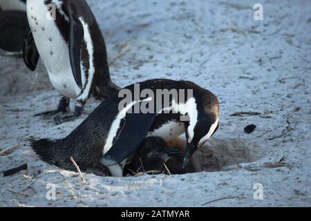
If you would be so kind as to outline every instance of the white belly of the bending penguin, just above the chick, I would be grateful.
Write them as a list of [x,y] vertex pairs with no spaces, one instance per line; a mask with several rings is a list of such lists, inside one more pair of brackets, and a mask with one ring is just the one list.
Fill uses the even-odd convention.
[[146,137],[162,137],[166,142],[175,140],[185,133],[185,126],[176,121],[170,121],[154,131],[150,131]]

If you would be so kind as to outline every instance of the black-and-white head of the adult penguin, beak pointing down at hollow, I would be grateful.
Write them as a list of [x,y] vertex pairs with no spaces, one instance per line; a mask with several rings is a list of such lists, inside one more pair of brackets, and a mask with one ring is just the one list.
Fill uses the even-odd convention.
[[206,144],[218,129],[219,103],[216,96],[211,94],[207,99],[203,99],[203,102],[201,100],[197,113],[196,119],[190,121],[192,126],[189,126],[190,122],[185,122],[187,150],[182,164],[183,168],[187,166],[190,157],[196,150]]

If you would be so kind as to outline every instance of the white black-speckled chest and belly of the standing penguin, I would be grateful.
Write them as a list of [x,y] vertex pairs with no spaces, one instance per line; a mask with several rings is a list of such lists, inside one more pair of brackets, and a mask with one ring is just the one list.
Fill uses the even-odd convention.
[[76,99],[81,92],[70,66],[68,44],[56,21],[51,19],[44,1],[28,0],[27,16],[41,60],[50,81],[62,95]]

